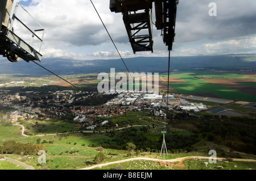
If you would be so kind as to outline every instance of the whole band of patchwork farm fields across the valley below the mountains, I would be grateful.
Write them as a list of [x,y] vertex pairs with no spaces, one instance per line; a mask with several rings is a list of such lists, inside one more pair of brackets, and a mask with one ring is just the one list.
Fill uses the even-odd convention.
[[[73,85],[97,90],[101,80],[97,74],[61,75]],[[183,71],[170,75],[170,92],[236,101],[256,102],[256,73],[253,71]],[[13,82],[7,86],[36,87],[46,85],[71,87],[69,83],[54,76],[26,77],[25,75],[5,75],[0,77],[0,85]],[[117,83],[116,80],[115,83]],[[159,75],[159,92],[167,91],[168,75]],[[154,85],[154,78],[152,79]],[[129,82],[127,81],[127,87]],[[140,87],[143,86],[140,82]],[[126,86],[125,86],[126,88]]]

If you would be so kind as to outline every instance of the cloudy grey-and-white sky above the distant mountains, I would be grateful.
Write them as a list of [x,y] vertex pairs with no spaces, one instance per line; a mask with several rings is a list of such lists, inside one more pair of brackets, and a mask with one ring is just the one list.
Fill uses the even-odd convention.
[[[154,27],[154,53],[133,53],[122,14],[109,10],[109,0],[92,0],[123,58],[168,56],[161,31]],[[18,0],[15,0],[18,2]],[[20,0],[46,29],[44,58],[78,60],[119,58],[90,0]],[[210,16],[209,3],[216,3],[217,16]],[[199,54],[256,53],[255,0],[180,0],[177,6],[176,37],[172,56]],[[34,27],[30,18],[18,17]],[[153,18],[154,20],[154,18]],[[16,28],[18,35],[27,33]]]

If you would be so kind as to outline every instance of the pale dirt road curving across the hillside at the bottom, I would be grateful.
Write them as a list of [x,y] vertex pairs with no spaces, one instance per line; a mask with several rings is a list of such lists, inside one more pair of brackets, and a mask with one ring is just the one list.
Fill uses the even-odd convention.
[[[98,165],[94,165],[91,167],[86,167],[84,169],[78,169],[78,170],[91,170],[91,169],[95,169],[97,167],[112,165],[115,163],[130,162],[130,161],[134,161],[134,160],[148,160],[148,161],[155,161],[155,162],[180,162],[180,161],[184,161],[185,159],[191,159],[191,158],[209,159],[209,157],[196,157],[196,156],[182,157],[182,158],[175,158],[175,159],[156,159],[156,158],[137,157],[137,158],[123,159],[123,160],[115,161],[115,162],[102,163],[102,164],[98,164]],[[216,159],[222,160],[225,158],[216,158]],[[233,161],[256,162],[255,159],[238,159],[238,158],[233,158]]]

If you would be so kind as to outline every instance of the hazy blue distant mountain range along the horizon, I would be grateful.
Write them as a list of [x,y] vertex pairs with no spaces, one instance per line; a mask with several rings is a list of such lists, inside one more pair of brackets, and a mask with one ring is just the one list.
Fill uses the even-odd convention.
[[[130,72],[167,72],[168,57],[135,57],[124,59]],[[38,62],[56,74],[80,74],[110,72],[126,72],[121,59],[117,60],[73,60],[64,58],[43,58]],[[214,56],[171,57],[171,70],[188,69],[256,69],[256,54],[226,54]],[[50,74],[33,62],[20,60],[11,63],[7,59],[0,60],[0,74]]]

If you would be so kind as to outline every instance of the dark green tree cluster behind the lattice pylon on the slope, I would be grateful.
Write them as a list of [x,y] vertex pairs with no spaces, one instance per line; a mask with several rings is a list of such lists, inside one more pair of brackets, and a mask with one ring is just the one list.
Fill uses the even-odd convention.
[[[101,145],[104,148],[127,149],[127,143],[133,143],[138,150],[150,150],[157,152],[161,149],[163,142],[162,133],[152,133],[151,128],[143,127],[141,129],[123,129],[119,132],[109,132],[106,134],[109,138],[105,139]],[[191,151],[191,146],[200,141],[197,134],[189,136],[179,134],[166,134],[166,144],[168,149],[184,149]],[[97,146],[97,145],[94,145]]]

